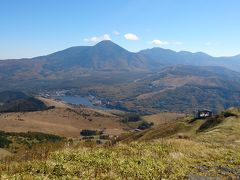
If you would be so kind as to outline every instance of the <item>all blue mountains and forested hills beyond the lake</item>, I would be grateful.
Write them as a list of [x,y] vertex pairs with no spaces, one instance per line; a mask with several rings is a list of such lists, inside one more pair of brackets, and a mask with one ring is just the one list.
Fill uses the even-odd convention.
[[75,89],[127,110],[218,111],[240,106],[240,55],[212,57],[162,48],[133,53],[102,41],[31,59],[0,61],[0,81],[0,91]]

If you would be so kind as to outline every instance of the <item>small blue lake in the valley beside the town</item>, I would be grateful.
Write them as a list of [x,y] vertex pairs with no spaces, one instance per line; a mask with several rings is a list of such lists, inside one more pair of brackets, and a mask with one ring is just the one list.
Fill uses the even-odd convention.
[[84,105],[90,108],[102,109],[102,110],[108,109],[104,106],[96,106],[88,98],[82,97],[82,96],[57,96],[57,99],[60,99],[66,103],[70,103],[74,105]]

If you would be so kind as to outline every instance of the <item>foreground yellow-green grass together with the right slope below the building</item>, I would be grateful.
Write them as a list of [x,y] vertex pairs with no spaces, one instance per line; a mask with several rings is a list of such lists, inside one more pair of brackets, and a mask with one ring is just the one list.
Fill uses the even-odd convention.
[[206,120],[189,117],[171,121],[128,135],[128,143],[81,142],[45,159],[24,161],[21,166],[17,162],[1,164],[1,178],[237,179],[239,115],[240,109],[230,109]]

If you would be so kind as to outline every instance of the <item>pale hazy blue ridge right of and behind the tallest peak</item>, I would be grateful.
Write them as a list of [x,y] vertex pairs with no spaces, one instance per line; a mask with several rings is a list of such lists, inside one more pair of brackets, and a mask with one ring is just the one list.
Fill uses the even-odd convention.
[[187,51],[175,52],[168,49],[152,48],[139,52],[149,60],[149,66],[193,65],[193,66],[222,66],[240,71],[240,56],[212,57],[208,54]]

